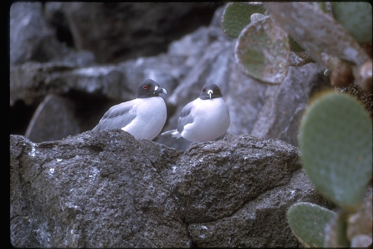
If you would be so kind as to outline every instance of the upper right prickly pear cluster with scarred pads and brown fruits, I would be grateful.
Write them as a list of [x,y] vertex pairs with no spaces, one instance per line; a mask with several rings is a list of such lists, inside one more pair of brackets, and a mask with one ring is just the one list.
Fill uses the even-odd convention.
[[[274,24],[263,26],[268,17]],[[372,42],[368,2],[229,2],[221,26],[226,35],[238,37],[238,65],[262,83],[281,84],[289,66],[317,62],[332,71],[332,86],[345,87],[355,80],[372,91],[372,61],[366,52]],[[283,40],[269,35],[281,29]]]

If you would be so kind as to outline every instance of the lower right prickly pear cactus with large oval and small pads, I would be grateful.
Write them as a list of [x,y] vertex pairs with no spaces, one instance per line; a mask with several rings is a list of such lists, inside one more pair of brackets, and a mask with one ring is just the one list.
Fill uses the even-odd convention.
[[327,92],[306,110],[299,134],[303,167],[316,189],[341,208],[293,204],[289,227],[305,247],[367,247],[372,243],[372,120],[345,93]]

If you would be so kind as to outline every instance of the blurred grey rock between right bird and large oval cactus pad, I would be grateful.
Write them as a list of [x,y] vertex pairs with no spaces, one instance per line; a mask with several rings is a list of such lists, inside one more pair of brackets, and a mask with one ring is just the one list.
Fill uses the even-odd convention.
[[315,89],[329,88],[329,80],[322,75],[322,67],[309,63],[290,67],[280,85],[269,86],[256,121],[250,132],[265,139],[277,138],[298,146],[298,130],[303,112]]

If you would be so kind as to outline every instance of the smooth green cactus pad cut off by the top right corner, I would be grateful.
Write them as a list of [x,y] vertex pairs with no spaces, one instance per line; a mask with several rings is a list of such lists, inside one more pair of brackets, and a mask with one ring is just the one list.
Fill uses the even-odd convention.
[[369,2],[332,2],[333,17],[360,44],[372,42],[372,5]]

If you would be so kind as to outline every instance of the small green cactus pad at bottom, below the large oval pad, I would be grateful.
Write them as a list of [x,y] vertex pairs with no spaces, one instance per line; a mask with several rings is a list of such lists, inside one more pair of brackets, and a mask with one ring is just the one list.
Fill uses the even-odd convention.
[[336,213],[319,205],[299,202],[293,204],[287,213],[288,224],[305,247],[321,248],[324,244],[324,228]]

